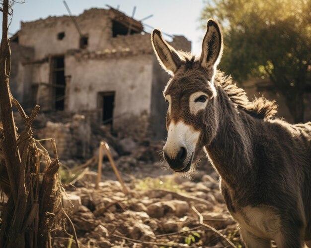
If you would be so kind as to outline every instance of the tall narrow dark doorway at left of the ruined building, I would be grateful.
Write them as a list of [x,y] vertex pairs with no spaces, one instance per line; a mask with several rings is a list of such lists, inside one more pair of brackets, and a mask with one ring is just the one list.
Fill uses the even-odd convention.
[[65,107],[65,57],[52,58],[52,88],[54,95],[54,109],[64,110]]

